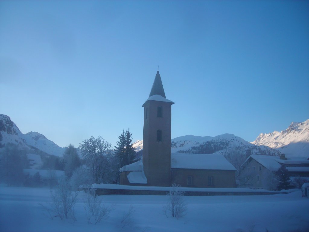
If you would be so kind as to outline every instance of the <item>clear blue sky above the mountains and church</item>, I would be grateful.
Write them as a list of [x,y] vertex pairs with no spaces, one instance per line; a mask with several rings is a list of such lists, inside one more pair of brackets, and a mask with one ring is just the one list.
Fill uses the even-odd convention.
[[143,138],[157,66],[172,138],[309,118],[308,1],[0,1],[0,113],[64,147]]

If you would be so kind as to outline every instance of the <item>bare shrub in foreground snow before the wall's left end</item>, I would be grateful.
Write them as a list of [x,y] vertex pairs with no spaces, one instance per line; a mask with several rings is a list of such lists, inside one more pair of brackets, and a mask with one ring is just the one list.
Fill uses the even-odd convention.
[[115,208],[115,205],[113,204],[110,207],[104,206],[102,199],[95,196],[95,189],[90,189],[87,193],[87,198],[84,201],[86,217],[88,224],[94,223],[96,225],[103,218],[108,218],[109,213]]

